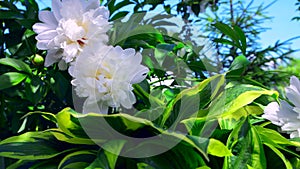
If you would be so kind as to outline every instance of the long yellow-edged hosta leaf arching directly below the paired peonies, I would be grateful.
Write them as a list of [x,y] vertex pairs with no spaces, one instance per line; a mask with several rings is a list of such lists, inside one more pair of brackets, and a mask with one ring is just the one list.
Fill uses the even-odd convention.
[[[96,144],[101,145],[108,140],[124,140],[124,138],[127,138],[121,136],[120,133],[128,137],[145,138],[142,139],[144,141],[141,141],[139,144],[126,140],[128,143],[124,145],[122,150],[125,154],[140,156],[146,152],[153,153],[157,150],[161,151],[161,149],[172,149],[172,152],[168,154],[169,157],[172,157],[174,156],[174,151],[178,151],[177,153],[179,153],[182,149],[185,149],[185,153],[190,151],[188,153],[193,154],[193,160],[197,161],[197,163],[202,164],[204,163],[203,157],[207,158],[207,155],[204,153],[204,149],[207,147],[207,144],[203,142],[203,139],[201,140],[200,138],[192,138],[187,137],[184,134],[165,131],[161,128],[155,127],[151,121],[133,117],[128,114],[77,114],[73,110],[66,108],[57,114],[57,121],[59,128],[67,134],[65,137],[73,137],[77,139],[90,138],[90,140],[94,141]],[[82,132],[87,132],[88,136],[86,134],[83,135]],[[146,139],[156,135],[159,135],[159,137],[150,140]],[[111,144],[112,143],[109,143],[108,145],[111,146]],[[153,146],[159,147],[159,149],[153,148]],[[179,147],[173,151],[173,146]],[[112,147],[117,148],[115,146]],[[106,156],[108,156],[108,154],[106,154]],[[182,153],[178,154],[178,160],[183,156],[184,154]],[[114,156],[111,156],[108,160],[113,162],[115,160],[114,158]],[[192,160],[189,158],[185,159],[186,161],[180,166],[184,166],[187,162],[192,163]],[[189,165],[195,166],[196,163]]]

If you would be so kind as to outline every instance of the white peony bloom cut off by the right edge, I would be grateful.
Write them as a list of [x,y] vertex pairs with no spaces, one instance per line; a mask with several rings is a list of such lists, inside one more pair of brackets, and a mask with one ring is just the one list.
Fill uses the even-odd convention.
[[286,101],[272,102],[267,105],[262,117],[281,127],[283,132],[290,134],[291,138],[300,137],[300,81],[295,76],[290,79],[290,86],[285,88],[286,96],[291,101],[291,106]]

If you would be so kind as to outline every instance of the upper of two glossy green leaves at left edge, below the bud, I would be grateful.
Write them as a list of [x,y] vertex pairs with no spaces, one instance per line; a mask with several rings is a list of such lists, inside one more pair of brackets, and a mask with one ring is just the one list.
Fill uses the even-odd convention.
[[26,63],[24,63],[23,61],[18,60],[18,59],[2,58],[2,59],[0,59],[0,64],[6,65],[6,66],[11,66],[18,71],[23,71],[28,74],[31,74],[30,67]]

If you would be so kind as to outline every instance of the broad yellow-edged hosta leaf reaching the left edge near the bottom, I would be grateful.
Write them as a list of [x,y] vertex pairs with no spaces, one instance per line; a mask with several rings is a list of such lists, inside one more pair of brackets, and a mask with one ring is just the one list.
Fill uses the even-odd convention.
[[21,159],[49,159],[66,151],[50,132],[27,132],[0,142],[0,156]]

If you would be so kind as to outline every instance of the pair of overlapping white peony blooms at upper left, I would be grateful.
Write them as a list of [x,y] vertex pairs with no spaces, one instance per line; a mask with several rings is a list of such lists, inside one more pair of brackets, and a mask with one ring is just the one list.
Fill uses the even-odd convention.
[[52,11],[40,11],[33,25],[37,48],[47,50],[45,66],[58,62],[74,78],[72,85],[85,97],[83,113],[106,114],[108,107],[131,108],[132,84],[145,79],[148,68],[134,49],[107,45],[109,11],[99,0],[53,0]]

